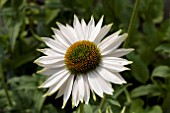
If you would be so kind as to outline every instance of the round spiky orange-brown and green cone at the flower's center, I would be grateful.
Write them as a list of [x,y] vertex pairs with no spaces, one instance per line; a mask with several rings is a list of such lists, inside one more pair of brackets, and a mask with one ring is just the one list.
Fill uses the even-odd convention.
[[72,74],[85,74],[94,70],[100,59],[101,54],[97,46],[85,40],[72,44],[65,54],[65,64]]

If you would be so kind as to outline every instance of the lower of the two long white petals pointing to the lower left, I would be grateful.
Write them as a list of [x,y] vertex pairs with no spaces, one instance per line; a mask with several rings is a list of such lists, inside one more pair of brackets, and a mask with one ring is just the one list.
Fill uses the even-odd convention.
[[50,87],[46,95],[49,96],[55,93],[65,83],[65,81],[69,78],[69,76],[70,73],[65,74],[62,79],[60,79],[55,85]]

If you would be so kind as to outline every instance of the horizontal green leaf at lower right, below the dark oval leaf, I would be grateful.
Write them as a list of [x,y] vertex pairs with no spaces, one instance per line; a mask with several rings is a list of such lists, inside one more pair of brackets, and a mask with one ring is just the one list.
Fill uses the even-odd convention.
[[145,86],[139,86],[132,90],[131,97],[140,97],[145,95],[159,96],[160,94],[161,90],[158,86],[149,84]]

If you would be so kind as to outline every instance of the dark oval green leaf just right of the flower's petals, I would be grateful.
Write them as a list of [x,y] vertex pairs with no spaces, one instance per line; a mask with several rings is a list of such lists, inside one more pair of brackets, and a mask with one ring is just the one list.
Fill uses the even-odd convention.
[[129,54],[127,57],[129,60],[133,61],[133,64],[131,64],[133,77],[141,83],[146,83],[149,79],[149,70],[147,65],[140,59],[139,56],[133,53]]

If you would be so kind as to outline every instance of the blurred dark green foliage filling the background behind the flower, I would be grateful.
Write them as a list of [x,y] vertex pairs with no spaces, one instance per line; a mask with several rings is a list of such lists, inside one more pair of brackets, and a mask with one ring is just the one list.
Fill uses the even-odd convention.
[[[40,37],[50,37],[56,21],[72,24],[74,14],[86,21],[104,15],[104,24],[114,23],[111,32],[127,32],[133,7],[134,0],[0,0],[0,113],[78,113],[71,100],[62,110],[62,98],[44,98],[46,90],[37,88],[46,78],[33,64],[40,56],[36,49],[45,47]],[[164,7],[163,0],[141,0],[128,45],[135,49],[127,55],[133,64],[122,73],[128,84],[113,85],[104,104],[91,99],[85,113],[170,113],[170,19]]]

